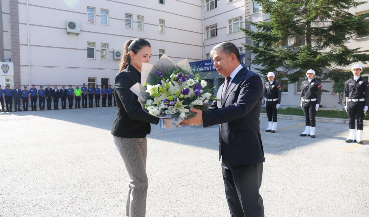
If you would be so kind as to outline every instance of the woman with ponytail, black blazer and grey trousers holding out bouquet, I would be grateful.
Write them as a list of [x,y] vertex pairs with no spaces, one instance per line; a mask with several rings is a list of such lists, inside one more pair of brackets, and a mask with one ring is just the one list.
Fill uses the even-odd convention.
[[138,97],[130,88],[141,83],[142,63],[149,63],[151,46],[142,38],[129,40],[124,45],[120,73],[115,77],[114,95],[117,102],[117,117],[111,134],[114,137],[127,172],[130,175],[127,194],[127,216],[145,216],[148,179],[146,175],[146,135],[150,134],[150,123],[158,124],[159,118],[146,113]]

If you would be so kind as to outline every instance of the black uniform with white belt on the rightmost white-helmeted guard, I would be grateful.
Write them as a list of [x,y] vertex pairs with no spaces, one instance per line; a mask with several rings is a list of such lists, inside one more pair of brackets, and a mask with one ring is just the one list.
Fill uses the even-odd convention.
[[358,80],[354,77],[345,82],[344,105],[347,106],[349,129],[355,129],[355,116],[357,129],[363,130],[364,106],[369,106],[369,82],[361,76]]

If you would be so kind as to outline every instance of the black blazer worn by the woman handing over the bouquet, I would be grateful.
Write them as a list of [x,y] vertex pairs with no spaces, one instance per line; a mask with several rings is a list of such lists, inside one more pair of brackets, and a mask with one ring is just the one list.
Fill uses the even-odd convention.
[[117,117],[111,134],[123,138],[144,138],[150,134],[150,123],[158,124],[159,118],[146,113],[138,97],[130,88],[141,82],[141,73],[128,64],[127,68],[115,77],[114,95],[117,102]]

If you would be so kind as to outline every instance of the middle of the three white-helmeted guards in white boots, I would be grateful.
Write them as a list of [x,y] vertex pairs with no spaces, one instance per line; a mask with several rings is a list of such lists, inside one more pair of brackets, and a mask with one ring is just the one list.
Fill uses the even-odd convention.
[[301,108],[305,115],[305,131],[300,136],[315,138],[315,115],[319,109],[323,87],[312,69],[306,72],[307,80],[301,84]]

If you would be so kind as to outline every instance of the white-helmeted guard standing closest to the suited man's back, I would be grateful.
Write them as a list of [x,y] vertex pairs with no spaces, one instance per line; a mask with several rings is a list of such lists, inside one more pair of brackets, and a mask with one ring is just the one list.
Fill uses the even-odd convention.
[[277,110],[282,98],[282,87],[274,80],[275,74],[273,72],[269,72],[267,77],[269,81],[264,87],[264,98],[266,114],[268,115],[268,128],[265,132],[275,133],[277,129]]

